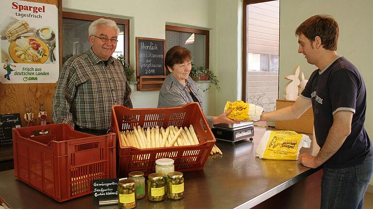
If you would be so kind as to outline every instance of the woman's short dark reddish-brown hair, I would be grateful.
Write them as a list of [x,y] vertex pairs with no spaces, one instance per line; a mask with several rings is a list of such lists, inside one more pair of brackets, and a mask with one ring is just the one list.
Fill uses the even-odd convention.
[[185,47],[173,46],[166,53],[165,65],[172,67],[174,64],[181,64],[192,60],[192,53]]

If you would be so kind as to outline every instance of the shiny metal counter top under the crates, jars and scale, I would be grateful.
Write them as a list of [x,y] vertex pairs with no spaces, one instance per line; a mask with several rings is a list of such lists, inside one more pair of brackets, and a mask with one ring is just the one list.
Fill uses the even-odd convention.
[[[240,141],[235,145],[217,141],[223,155],[210,155],[203,170],[185,172],[185,193],[182,200],[168,199],[153,203],[147,197],[137,201],[138,209],[233,209],[251,208],[280,193],[298,181],[315,173],[297,161],[262,160],[255,157],[255,149],[265,128],[254,128],[254,141]],[[313,135],[310,149],[315,155],[319,146]],[[26,183],[15,179],[14,170],[0,172],[0,197],[13,209],[115,209],[98,207],[92,195],[59,203]]]

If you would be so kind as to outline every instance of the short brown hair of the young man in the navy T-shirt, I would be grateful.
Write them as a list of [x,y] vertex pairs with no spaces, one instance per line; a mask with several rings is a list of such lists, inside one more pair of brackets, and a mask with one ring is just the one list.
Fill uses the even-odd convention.
[[303,34],[311,43],[320,36],[324,49],[337,50],[339,28],[337,21],[329,15],[315,15],[306,19],[297,30],[297,36]]

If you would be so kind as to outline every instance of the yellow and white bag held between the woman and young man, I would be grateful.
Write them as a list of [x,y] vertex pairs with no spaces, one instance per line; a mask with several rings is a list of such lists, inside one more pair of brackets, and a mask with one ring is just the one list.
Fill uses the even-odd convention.
[[263,112],[263,107],[255,104],[244,103],[243,101],[229,102],[225,104],[224,112],[232,110],[227,116],[229,119],[239,119],[247,121],[258,121]]

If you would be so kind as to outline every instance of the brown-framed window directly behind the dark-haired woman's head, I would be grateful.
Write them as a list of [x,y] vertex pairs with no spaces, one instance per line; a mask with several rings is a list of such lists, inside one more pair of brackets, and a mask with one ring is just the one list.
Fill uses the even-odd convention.
[[208,30],[166,25],[166,52],[175,45],[186,47],[192,52],[196,66],[209,67]]

